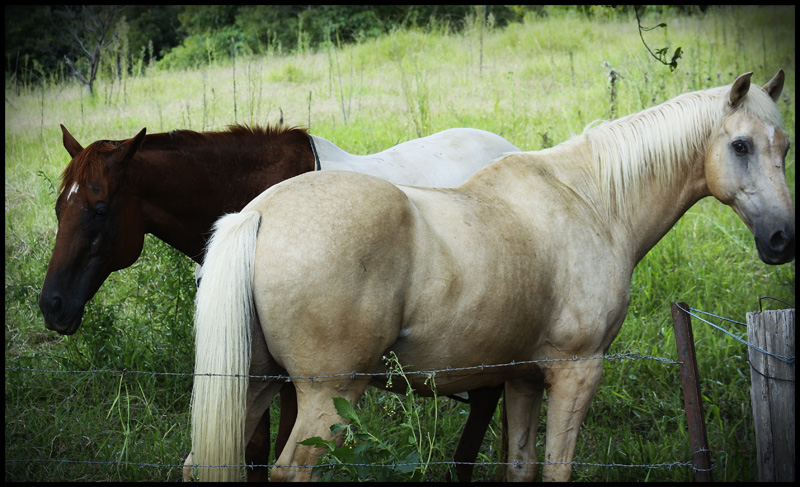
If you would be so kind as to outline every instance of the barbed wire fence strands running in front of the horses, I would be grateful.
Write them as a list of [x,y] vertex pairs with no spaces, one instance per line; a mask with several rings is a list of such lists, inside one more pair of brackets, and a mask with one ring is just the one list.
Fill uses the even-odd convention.
[[[747,342],[746,340],[736,336],[734,333],[723,329],[722,327],[708,321],[707,319],[699,316],[699,314],[703,314],[706,316],[712,316],[717,319],[721,319],[724,321],[728,321],[734,324],[747,326],[746,323],[741,321],[729,319],[723,316],[716,315],[714,313],[709,313],[703,310],[699,310],[696,308],[689,307],[688,309],[684,309],[683,307],[678,306],[679,309],[686,312],[690,316],[698,319],[702,323],[705,323],[711,326],[713,329],[721,331],[722,333],[732,337],[736,341],[751,347],[757,350],[760,353],[771,355],[779,360],[785,361],[787,363],[794,363],[795,357],[784,357],[780,355],[776,355],[773,353],[768,352],[760,347],[753,345],[752,343]],[[540,360],[528,360],[528,361],[511,361],[504,364],[489,364],[489,365],[478,365],[473,367],[458,367],[458,368],[445,368],[445,369],[437,369],[437,370],[427,370],[427,371],[404,371],[403,374],[405,375],[424,375],[426,377],[435,377],[437,373],[448,373],[452,374],[453,372],[460,372],[460,371],[470,371],[470,370],[486,370],[498,367],[513,367],[513,366],[520,366],[520,365],[529,365],[534,363],[543,363],[543,362],[577,362],[577,361],[585,361],[585,360],[654,360],[656,362],[660,362],[665,365],[681,365],[682,362],[675,361],[665,357],[657,357],[652,355],[643,355],[639,353],[614,353],[603,355],[600,357],[572,357],[572,358],[561,358],[561,359],[540,359]],[[19,371],[19,372],[28,372],[28,373],[41,373],[41,374],[115,374],[115,375],[127,375],[127,374],[141,374],[141,375],[148,375],[148,376],[219,376],[219,377],[246,377],[252,379],[274,379],[274,380],[282,380],[282,381],[298,381],[298,380],[315,380],[315,379],[327,379],[327,378],[336,378],[336,377],[348,377],[354,378],[357,376],[371,376],[371,377],[381,377],[381,376],[392,376],[397,375],[398,373],[393,372],[386,372],[386,373],[359,373],[359,372],[350,372],[350,373],[341,373],[341,374],[329,374],[329,375],[320,375],[320,376],[303,376],[303,377],[290,377],[290,376],[264,376],[264,375],[230,375],[230,374],[194,374],[194,373],[185,373],[185,372],[156,372],[156,371],[139,371],[139,370],[113,370],[113,369],[94,369],[94,370],[53,370],[53,369],[36,369],[31,367],[6,367],[6,371]],[[699,453],[700,451],[708,451],[708,450],[699,450],[697,452],[692,452],[690,458],[694,456],[695,453]],[[147,462],[129,462],[129,461],[117,461],[117,460],[71,460],[71,459],[59,459],[59,458],[22,458],[22,459],[6,459],[6,463],[57,463],[57,464],[88,464],[88,465],[114,465],[114,466],[131,466],[131,467],[149,467],[149,468],[184,468],[184,464],[161,464],[161,463],[147,463]],[[378,468],[397,468],[397,467],[420,467],[420,466],[432,466],[432,465],[449,465],[449,466],[456,466],[456,465],[473,465],[473,466],[519,466],[519,465],[554,465],[554,464],[570,464],[573,466],[578,467],[606,467],[606,468],[647,468],[647,469],[673,469],[673,468],[692,468],[693,471],[703,471],[693,465],[692,461],[665,461],[662,463],[656,464],[620,464],[620,463],[592,463],[592,462],[581,462],[581,461],[572,461],[572,462],[457,462],[457,461],[434,461],[434,462],[409,462],[409,463],[382,463],[382,464],[364,464],[364,463],[330,463],[330,464],[318,464],[318,465],[309,465],[309,466],[286,466],[286,465],[275,465],[275,464],[265,464],[265,465],[254,465],[254,464],[241,464],[241,465],[191,465],[192,467],[204,467],[204,468],[245,468],[245,467],[279,467],[279,468],[335,468],[335,467],[378,467]],[[711,465],[711,469],[715,465]]]

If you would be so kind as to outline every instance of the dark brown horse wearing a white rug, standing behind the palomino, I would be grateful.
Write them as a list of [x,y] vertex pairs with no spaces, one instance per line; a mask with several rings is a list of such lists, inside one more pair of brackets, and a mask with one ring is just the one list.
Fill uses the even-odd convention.
[[[225,132],[151,135],[143,129],[131,139],[101,140],[85,149],[63,125],[61,130],[73,159],[62,175],[58,234],[39,307],[45,326],[66,335],[77,331],[86,303],[110,273],[139,258],[146,233],[201,263],[217,218],[315,166],[449,187],[504,153],[519,150],[498,135],[469,128],[445,130],[368,156],[348,154],[302,129],[236,126]],[[472,407],[457,460],[474,461],[498,396],[499,390],[470,395]],[[287,385],[281,394],[276,451],[294,421],[293,398]],[[265,414],[248,447],[249,463],[269,463],[268,441]],[[265,469],[249,474],[266,478]]]

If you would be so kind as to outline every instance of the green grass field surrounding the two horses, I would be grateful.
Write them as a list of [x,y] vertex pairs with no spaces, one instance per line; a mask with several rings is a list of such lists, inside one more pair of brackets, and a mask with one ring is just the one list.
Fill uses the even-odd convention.
[[[142,127],[149,133],[219,130],[233,123],[275,124],[282,116],[353,153],[457,126],[539,150],[595,120],[729,84],[747,71],[761,85],[783,68],[779,107],[792,142],[786,165],[794,195],[794,7],[715,8],[695,17],[644,19],[647,25],[659,22],[667,29],[646,33],[645,40],[654,48],[668,45],[670,52],[682,48],[674,72],[647,53],[635,18],[598,9],[593,19],[550,15],[504,29],[475,25],[462,34],[399,30],[339,48],[240,58],[191,71],[151,69],[140,77],[100,80],[94,98],[74,83],[22,86],[7,79],[6,481],[176,480],[179,469],[168,465],[181,463],[190,448],[191,377],[119,372],[191,373],[194,265],[188,258],[148,237],[137,263],[114,273],[89,303],[77,334],[64,337],[44,328],[36,299],[55,241],[59,175],[70,159],[59,123],[84,145],[132,137]],[[611,69],[619,75],[613,88]],[[676,359],[672,301],[743,322],[746,312],[758,310],[759,297],[793,303],[794,293],[794,262],[763,264],[745,225],[709,198],[637,267],[629,313],[609,353]],[[746,337],[744,327],[715,321]],[[714,479],[755,480],[746,347],[696,320],[694,336]],[[377,436],[390,450],[406,452],[413,443],[409,435],[420,440],[430,433],[430,441],[414,443],[419,458],[430,462],[450,459],[466,418],[465,406],[450,399],[374,389],[357,412],[355,440],[374,446]],[[479,457],[489,465],[476,468],[477,480],[496,475],[491,462],[499,459],[498,418]],[[387,455],[377,447],[359,450],[359,459],[370,463]],[[678,367],[607,360],[578,440],[575,460],[583,464],[575,466],[573,479],[689,481],[691,468],[670,464],[690,458]],[[445,470],[419,467],[414,478],[442,480]],[[334,479],[411,475],[343,468]]]

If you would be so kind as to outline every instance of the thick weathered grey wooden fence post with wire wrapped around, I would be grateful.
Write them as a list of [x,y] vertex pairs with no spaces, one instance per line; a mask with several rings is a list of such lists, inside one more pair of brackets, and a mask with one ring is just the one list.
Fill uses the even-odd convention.
[[794,482],[794,310],[747,313],[758,480]]

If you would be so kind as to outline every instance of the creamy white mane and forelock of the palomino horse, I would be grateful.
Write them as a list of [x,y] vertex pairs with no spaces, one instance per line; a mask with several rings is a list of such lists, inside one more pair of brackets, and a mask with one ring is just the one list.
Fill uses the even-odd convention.
[[[597,169],[607,214],[639,201],[649,184],[670,185],[705,150],[712,131],[733,113],[730,85],[680,95],[644,111],[587,127],[584,136]],[[780,113],[761,88],[751,85],[736,108],[781,125]]]

